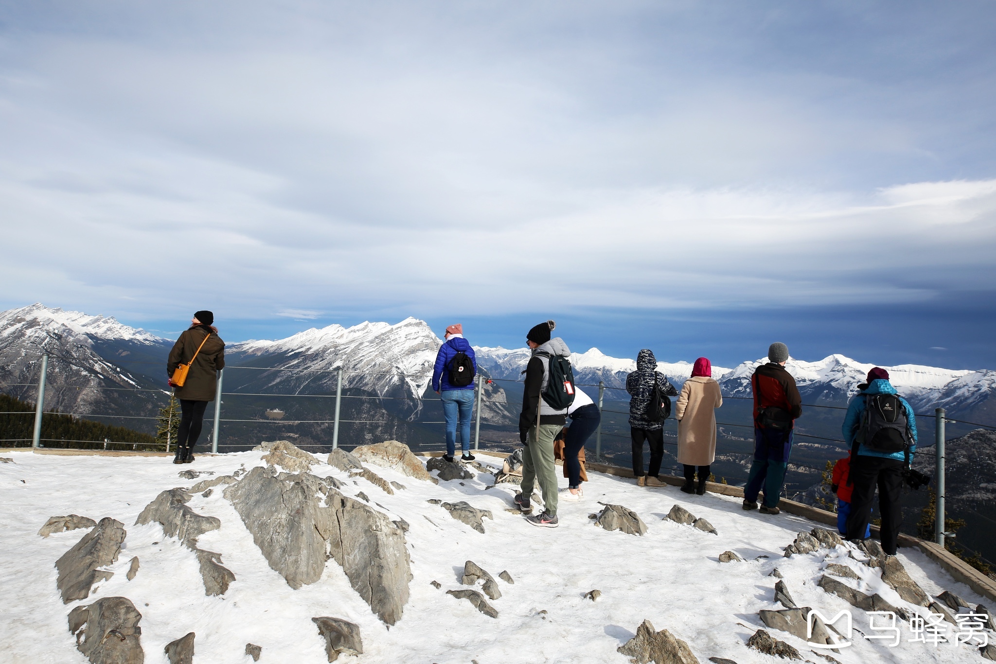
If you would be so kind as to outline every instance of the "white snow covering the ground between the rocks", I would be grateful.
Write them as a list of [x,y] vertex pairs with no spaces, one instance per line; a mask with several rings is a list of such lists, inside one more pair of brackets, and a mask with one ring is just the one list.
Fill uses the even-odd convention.
[[[129,598],[141,612],[141,643],[150,664],[166,662],[163,646],[190,631],[197,634],[194,661],[202,664],[250,662],[244,654],[247,642],[263,647],[261,662],[325,662],[324,641],[311,621],[323,615],[361,625],[365,653],[343,656],[342,662],[623,664],[627,659],[616,649],[648,618],[656,629],[667,628],[687,641],[703,664],[712,656],[739,664],[770,663],[775,659],[746,648],[745,643],[763,627],[759,609],[782,608],[773,599],[776,579],[768,576],[776,565],[800,606],[813,606],[831,616],[851,608],[815,584],[824,558],[846,559],[843,550],[786,559],[782,549],[797,532],[809,531],[814,524],[791,515],[744,513],[739,499],[687,496],[673,487],[638,488],[632,480],[591,473],[585,499],[562,501],[560,528],[547,530],[507,512],[514,486],[485,490],[491,475],[478,475],[463,485],[453,481],[435,486],[371,466],[381,477],[407,488],[388,496],[366,480],[350,480],[346,473],[324,463],[315,467],[315,474],[335,475],[347,482],[347,493],[363,491],[391,519],[410,524],[407,542],[414,578],[401,620],[386,629],[334,560],[319,582],[291,589],[269,567],[220,487],[209,498],[197,495],[188,504],[197,513],[221,520],[221,529],[201,536],[198,546],[222,553],[223,564],[236,576],[223,596],[205,596],[194,554],[163,537],[158,524],[133,526],[135,518],[160,491],[196,482],[179,479],[178,470],[227,475],[242,466],[262,465],[261,454],[202,456],[192,465],[174,466],[161,457],[5,452],[15,463],[0,464],[0,503],[4,506],[0,660],[12,664],[85,662],[68,631],[66,616],[78,604],[115,595]],[[483,455],[479,459],[489,461]],[[566,485],[566,480],[561,479],[561,484]],[[491,510],[494,521],[485,520],[486,534],[481,535],[450,518],[442,508],[426,503],[430,498],[466,500]],[[601,509],[599,501],[635,511],[647,526],[646,536],[593,526],[588,515]],[[719,536],[662,521],[675,503],[707,519]],[[54,562],[86,531],[48,539],[37,533],[49,517],[68,514],[94,520],[114,517],[124,523],[127,538],[121,557],[110,567],[116,572],[114,577],[99,585],[90,598],[63,604],[56,590]],[[727,550],[748,561],[718,562],[717,555]],[[133,555],[139,557],[140,569],[128,581],[124,572]],[[754,559],[763,555],[769,557]],[[923,554],[900,550],[899,556],[928,593],[949,589],[973,606],[986,603]],[[503,596],[490,601],[499,611],[497,619],[479,613],[465,599],[445,594],[447,589],[466,587],[460,575],[467,559],[496,578],[505,569],[514,578],[514,585],[498,581]],[[850,563],[858,566],[854,560]],[[441,583],[441,589],[433,587],[432,580]],[[597,602],[584,598],[594,588],[603,593]],[[876,578],[871,579],[871,590],[867,585],[862,589],[870,594],[877,591],[896,606],[909,606]],[[854,612],[855,626],[867,631],[867,617],[858,609]],[[795,645],[806,659],[824,663],[800,639],[784,632],[772,634]],[[889,648],[856,634],[854,647],[833,656],[845,664],[983,661],[974,647],[935,647],[909,643],[908,638],[906,628],[902,642]]]

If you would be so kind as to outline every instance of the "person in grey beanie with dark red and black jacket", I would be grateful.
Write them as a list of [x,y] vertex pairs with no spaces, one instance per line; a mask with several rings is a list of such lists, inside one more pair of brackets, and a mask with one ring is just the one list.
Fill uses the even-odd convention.
[[768,361],[754,370],[754,461],[744,487],[744,510],[757,509],[764,488],[762,514],[778,514],[785,471],[792,453],[792,429],[803,414],[803,399],[796,379],[785,370],[789,346],[775,341],[768,347]]

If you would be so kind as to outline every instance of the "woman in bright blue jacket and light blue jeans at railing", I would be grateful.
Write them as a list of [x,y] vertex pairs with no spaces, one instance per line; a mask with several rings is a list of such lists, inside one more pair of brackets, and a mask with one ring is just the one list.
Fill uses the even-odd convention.
[[470,416],[474,410],[474,381],[466,385],[452,385],[449,381],[450,362],[456,353],[462,352],[470,358],[477,375],[477,358],[467,339],[463,338],[463,326],[459,323],[446,328],[446,342],[439,346],[435,367],[432,369],[432,389],[442,401],[443,417],[446,420],[446,454],[443,459],[452,462],[456,454],[456,427],[460,426],[460,444],[463,447],[461,461],[473,461],[470,453]]

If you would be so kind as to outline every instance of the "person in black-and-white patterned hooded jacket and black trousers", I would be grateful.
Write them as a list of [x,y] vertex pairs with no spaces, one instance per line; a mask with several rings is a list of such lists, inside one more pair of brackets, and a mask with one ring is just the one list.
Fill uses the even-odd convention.
[[[664,458],[663,422],[651,421],[647,416],[650,395],[654,384],[660,389],[663,398],[677,396],[674,385],[657,370],[657,359],[653,351],[643,348],[636,355],[636,370],[625,377],[625,390],[629,392],[629,437],[632,439],[632,474],[639,486],[664,486],[657,475],[660,462]],[[643,471],[643,441],[650,447],[649,475]]]

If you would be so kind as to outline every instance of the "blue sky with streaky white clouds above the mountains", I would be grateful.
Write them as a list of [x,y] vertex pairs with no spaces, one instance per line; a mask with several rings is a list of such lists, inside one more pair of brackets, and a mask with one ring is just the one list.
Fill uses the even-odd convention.
[[0,2],[0,305],[996,368],[993,25],[991,2]]

